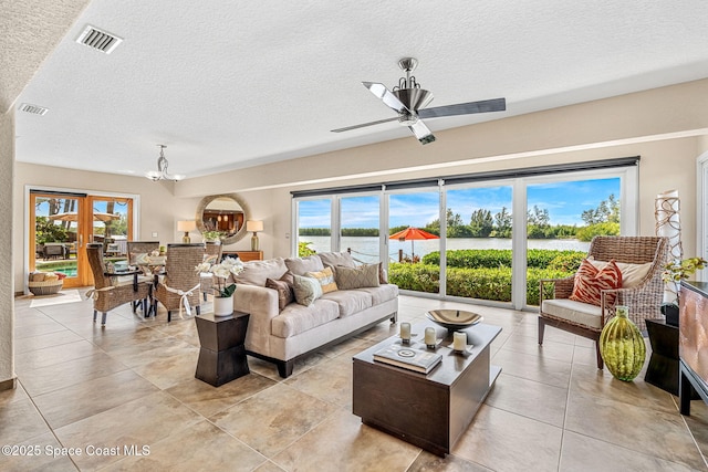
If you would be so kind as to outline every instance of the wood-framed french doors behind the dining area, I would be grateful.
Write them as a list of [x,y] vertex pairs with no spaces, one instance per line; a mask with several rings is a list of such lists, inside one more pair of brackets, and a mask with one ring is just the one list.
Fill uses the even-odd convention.
[[93,284],[86,243],[118,261],[133,234],[132,198],[32,190],[29,217],[30,272],[61,272],[65,287]]

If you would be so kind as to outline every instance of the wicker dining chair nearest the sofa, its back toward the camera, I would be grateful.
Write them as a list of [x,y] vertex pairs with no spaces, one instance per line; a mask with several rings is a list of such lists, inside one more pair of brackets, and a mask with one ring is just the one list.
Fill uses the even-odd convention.
[[195,268],[204,261],[205,244],[167,244],[165,274],[155,286],[154,313],[157,313],[157,302],[167,308],[167,322],[171,321],[173,312],[183,308],[191,312],[195,307],[199,314],[199,294],[201,281]]

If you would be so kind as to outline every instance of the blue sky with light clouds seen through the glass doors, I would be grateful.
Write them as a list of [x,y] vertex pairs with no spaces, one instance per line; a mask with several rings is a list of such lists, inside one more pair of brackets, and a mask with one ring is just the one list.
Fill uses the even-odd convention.
[[[551,224],[583,225],[581,214],[595,209],[610,195],[620,199],[620,178],[529,185],[528,208],[548,209]],[[378,228],[377,196],[342,197],[342,228]],[[447,190],[447,207],[469,223],[472,211],[485,209],[492,216],[506,207],[511,212],[511,187],[479,187]],[[389,227],[425,227],[438,218],[437,191],[395,193],[389,197]],[[301,200],[300,228],[329,228],[331,200]]]

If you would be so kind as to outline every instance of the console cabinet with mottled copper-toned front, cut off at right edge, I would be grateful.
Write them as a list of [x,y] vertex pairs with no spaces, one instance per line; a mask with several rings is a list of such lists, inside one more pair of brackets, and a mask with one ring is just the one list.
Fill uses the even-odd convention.
[[679,308],[679,403],[690,415],[695,394],[708,403],[708,283],[681,282]]

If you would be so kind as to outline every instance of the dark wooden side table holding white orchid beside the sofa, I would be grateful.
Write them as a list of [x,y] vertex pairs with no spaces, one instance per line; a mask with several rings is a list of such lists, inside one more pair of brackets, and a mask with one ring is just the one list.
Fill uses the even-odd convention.
[[219,387],[249,374],[243,346],[249,317],[241,312],[229,316],[214,316],[214,313],[195,316],[201,344],[196,378]]

